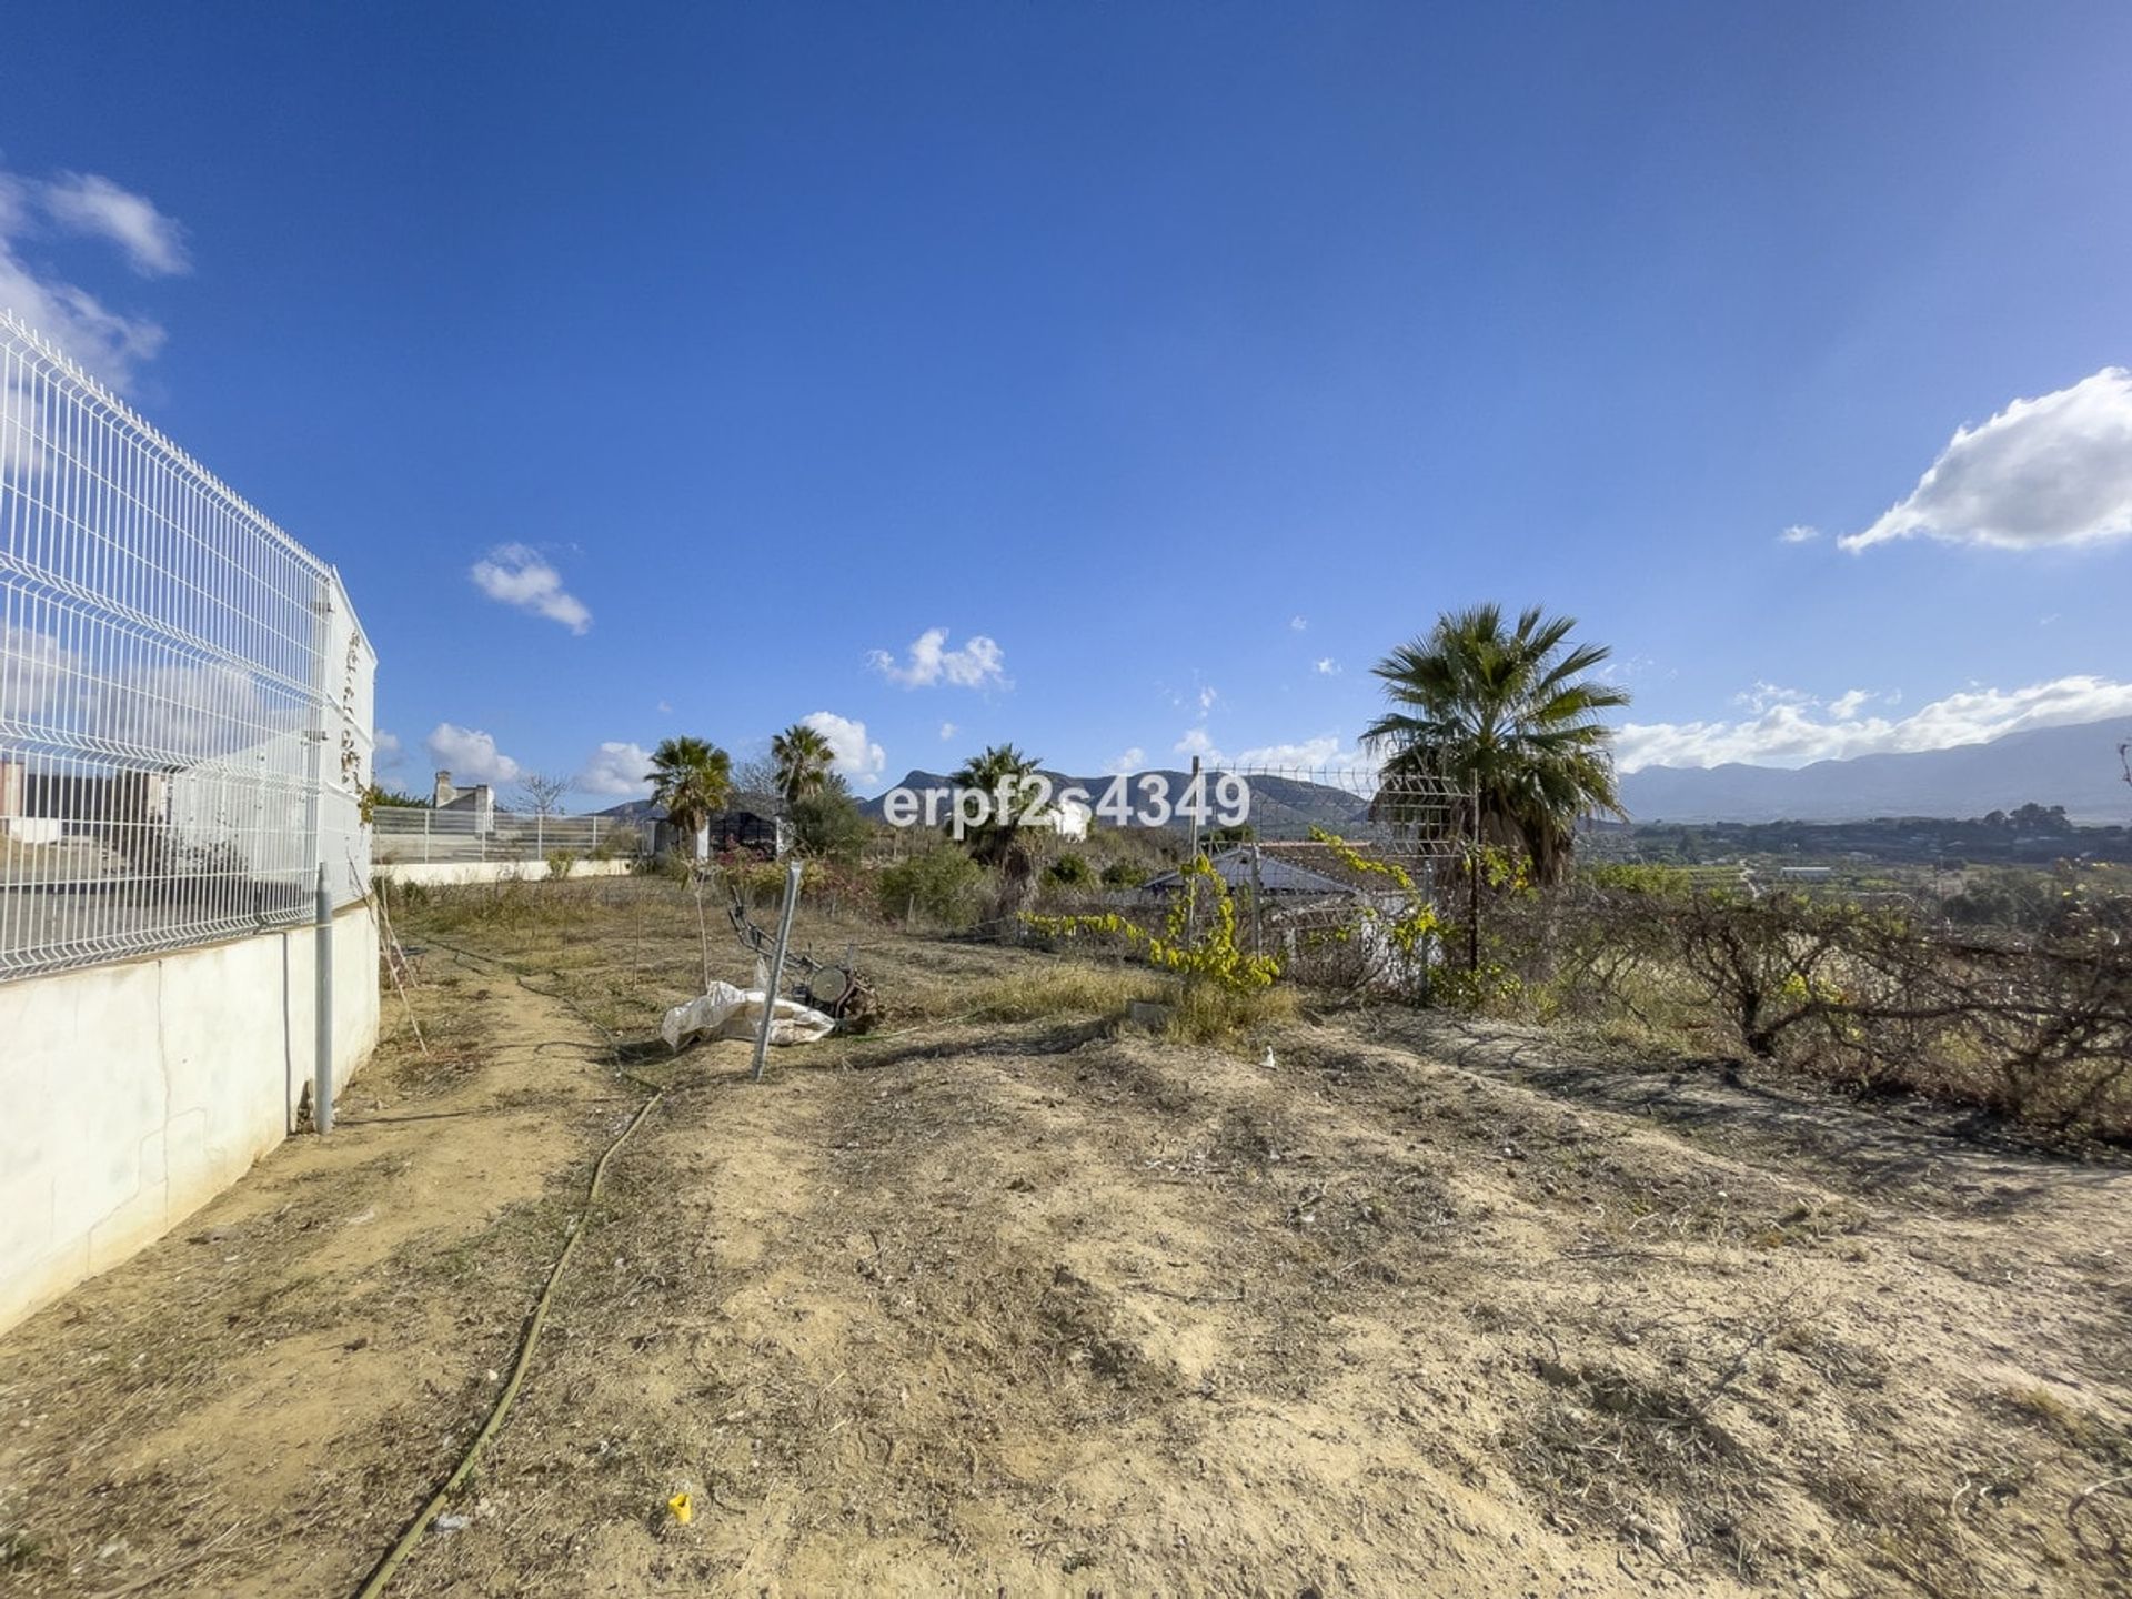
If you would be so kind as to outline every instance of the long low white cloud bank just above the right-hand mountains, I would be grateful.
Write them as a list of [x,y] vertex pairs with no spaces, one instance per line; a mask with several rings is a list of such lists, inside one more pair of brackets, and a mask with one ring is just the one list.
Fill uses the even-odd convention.
[[1757,714],[1735,723],[1627,723],[1614,740],[1614,761],[1622,772],[1725,761],[1808,765],[1853,755],[1981,744],[2030,727],[2132,714],[2132,682],[2096,676],[2055,678],[2025,689],[1966,689],[1900,718],[1857,714],[1874,697],[1900,704],[1900,695],[1868,695],[1857,689],[1829,706],[1804,695],[1761,701],[1748,695]]

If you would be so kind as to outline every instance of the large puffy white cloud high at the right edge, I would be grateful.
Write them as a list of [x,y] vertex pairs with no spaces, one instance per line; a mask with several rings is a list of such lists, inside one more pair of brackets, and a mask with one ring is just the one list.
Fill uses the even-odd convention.
[[1838,544],[1863,550],[1932,537],[2034,550],[2132,533],[2132,371],[2104,367],[2072,388],[2017,399],[1953,441],[1908,499]]

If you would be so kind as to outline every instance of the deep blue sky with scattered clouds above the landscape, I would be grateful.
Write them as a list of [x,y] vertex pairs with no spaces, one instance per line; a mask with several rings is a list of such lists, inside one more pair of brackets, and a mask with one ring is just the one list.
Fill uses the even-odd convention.
[[409,787],[1339,759],[1488,597],[1625,765],[2132,714],[2132,9],[1433,13],[30,6],[0,298]]

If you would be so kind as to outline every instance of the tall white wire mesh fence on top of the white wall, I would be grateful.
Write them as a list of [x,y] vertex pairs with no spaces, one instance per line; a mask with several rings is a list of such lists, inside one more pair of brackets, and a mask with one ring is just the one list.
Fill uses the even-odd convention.
[[0,979],[362,893],[339,576],[0,311]]

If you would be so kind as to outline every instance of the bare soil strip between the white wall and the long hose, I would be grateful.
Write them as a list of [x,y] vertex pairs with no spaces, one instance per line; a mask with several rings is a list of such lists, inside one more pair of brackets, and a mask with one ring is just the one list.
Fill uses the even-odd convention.
[[637,1089],[495,968],[422,1008],[330,1138],[0,1339],[0,1593],[352,1590],[448,1469]]

